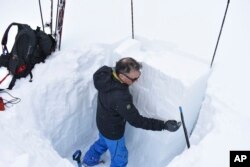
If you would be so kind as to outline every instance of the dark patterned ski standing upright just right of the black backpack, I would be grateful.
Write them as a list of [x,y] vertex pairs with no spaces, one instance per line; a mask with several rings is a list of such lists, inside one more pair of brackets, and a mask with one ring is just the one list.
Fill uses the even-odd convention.
[[57,45],[58,50],[61,49],[65,3],[66,3],[66,0],[58,0],[58,4],[57,4],[55,39],[56,39],[56,45]]

